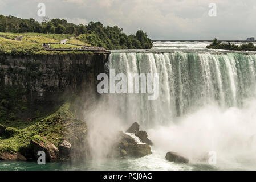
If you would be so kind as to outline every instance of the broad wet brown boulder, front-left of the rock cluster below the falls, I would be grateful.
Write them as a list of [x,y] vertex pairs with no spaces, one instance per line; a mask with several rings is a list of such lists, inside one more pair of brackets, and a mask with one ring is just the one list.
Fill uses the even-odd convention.
[[139,144],[131,136],[120,132],[118,151],[120,156],[143,157],[152,154],[148,144]]

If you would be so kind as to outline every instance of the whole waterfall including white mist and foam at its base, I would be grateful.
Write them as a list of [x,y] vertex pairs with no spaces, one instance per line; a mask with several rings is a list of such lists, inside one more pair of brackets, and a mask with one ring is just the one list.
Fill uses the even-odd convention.
[[[153,155],[137,159],[138,166],[255,169],[256,55],[168,51],[113,51],[109,55],[107,68],[114,69],[115,75],[159,74],[156,100],[148,100],[143,93],[104,97],[123,129],[137,121],[154,143]],[[168,151],[184,154],[194,166],[166,164]],[[216,166],[205,161],[202,167],[201,159],[208,159],[212,151],[218,155]]]

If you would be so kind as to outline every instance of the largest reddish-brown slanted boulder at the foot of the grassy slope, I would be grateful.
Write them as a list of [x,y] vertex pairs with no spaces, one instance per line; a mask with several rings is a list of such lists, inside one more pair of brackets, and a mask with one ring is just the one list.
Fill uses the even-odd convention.
[[35,158],[38,158],[38,152],[44,151],[46,154],[47,162],[55,162],[59,159],[58,148],[49,142],[45,137],[40,137],[38,135],[34,136],[31,140],[31,148],[34,152]]

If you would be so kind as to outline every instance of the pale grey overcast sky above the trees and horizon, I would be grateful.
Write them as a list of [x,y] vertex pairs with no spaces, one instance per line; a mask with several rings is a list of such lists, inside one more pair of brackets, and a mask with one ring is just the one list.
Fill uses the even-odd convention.
[[[38,3],[46,16],[75,24],[100,21],[117,25],[127,34],[147,32],[153,40],[245,40],[256,36],[255,0],[0,0],[0,14],[38,17]],[[217,16],[210,17],[209,3]]]

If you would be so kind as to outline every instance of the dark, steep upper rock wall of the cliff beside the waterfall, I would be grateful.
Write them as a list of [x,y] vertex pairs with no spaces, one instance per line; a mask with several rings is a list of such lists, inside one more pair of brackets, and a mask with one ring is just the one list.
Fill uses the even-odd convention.
[[0,86],[19,85],[33,101],[46,101],[66,92],[96,89],[108,53],[87,55],[0,55]]

